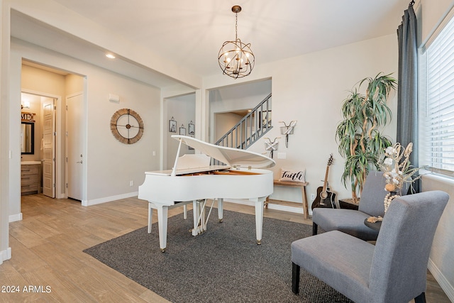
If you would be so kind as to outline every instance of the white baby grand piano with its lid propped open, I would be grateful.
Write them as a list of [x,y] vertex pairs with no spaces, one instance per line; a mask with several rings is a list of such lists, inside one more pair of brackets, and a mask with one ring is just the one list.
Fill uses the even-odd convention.
[[[205,204],[200,200],[207,198],[218,200],[219,221],[223,219],[223,199],[255,202],[255,233],[260,244],[263,203],[273,191],[273,173],[263,168],[274,166],[275,161],[259,153],[213,145],[188,136],[172,138],[179,141],[173,169],[145,172],[145,181],[138,193],[139,199],[148,200],[148,233],[151,233],[153,209],[157,209],[162,252],[167,246],[168,209],[192,203],[192,235],[196,236],[206,231]],[[201,154],[178,157],[182,143]],[[211,158],[225,165],[210,165]]]

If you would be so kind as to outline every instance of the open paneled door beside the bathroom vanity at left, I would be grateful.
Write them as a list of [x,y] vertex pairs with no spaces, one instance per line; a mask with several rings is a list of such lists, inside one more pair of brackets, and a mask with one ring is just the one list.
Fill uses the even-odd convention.
[[55,198],[55,99],[43,103],[43,194]]

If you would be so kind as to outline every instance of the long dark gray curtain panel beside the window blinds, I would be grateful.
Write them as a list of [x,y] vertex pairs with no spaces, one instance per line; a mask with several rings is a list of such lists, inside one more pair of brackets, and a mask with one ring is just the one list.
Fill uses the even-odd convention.
[[[397,28],[399,41],[399,82],[397,84],[397,142],[403,146],[413,143],[410,161],[418,161],[418,49],[416,42],[416,15],[414,1],[404,11],[402,23]],[[419,192],[419,180],[413,184]]]

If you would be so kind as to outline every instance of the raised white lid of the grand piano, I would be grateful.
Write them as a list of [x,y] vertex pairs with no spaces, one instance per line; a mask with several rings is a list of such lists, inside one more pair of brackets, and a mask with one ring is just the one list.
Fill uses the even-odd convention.
[[276,165],[275,160],[249,150],[214,145],[188,136],[173,135],[172,138],[230,167],[267,168]]

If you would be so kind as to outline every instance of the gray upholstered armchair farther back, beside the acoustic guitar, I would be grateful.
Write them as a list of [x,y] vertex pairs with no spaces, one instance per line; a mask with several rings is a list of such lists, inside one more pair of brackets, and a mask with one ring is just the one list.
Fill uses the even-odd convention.
[[[383,172],[372,170],[367,175],[362,189],[358,211],[353,209],[315,208],[312,212],[312,234],[317,234],[318,226],[323,231],[343,231],[365,241],[375,241],[378,231],[364,225],[364,220],[370,216],[384,215],[384,196],[387,191]],[[405,195],[408,187],[399,192]]]

